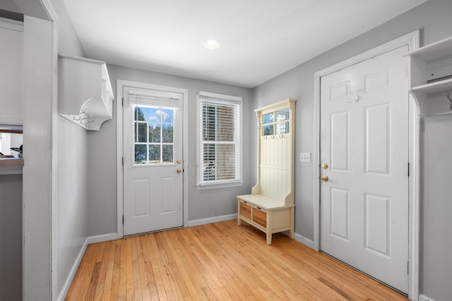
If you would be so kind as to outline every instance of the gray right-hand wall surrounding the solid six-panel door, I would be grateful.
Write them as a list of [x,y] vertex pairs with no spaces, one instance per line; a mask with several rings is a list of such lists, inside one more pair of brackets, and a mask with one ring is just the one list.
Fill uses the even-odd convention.
[[[421,30],[421,46],[452,36],[452,1],[429,0],[364,35],[315,59],[297,66],[283,75],[254,89],[254,106],[270,104],[280,99],[297,99],[296,153],[314,153],[314,73],[344,61],[356,54],[377,47],[409,32]],[[332,28],[331,30],[334,30]],[[421,199],[421,274],[420,293],[436,301],[452,300],[452,260],[446,254],[452,248],[448,239],[452,222],[450,188],[452,115],[426,118],[424,172],[426,180]],[[444,133],[444,135],[435,135]],[[255,152],[249,155],[254,157]],[[254,161],[254,160],[253,160]],[[313,164],[296,163],[295,232],[314,239],[313,229]],[[449,183],[447,183],[447,181]]]

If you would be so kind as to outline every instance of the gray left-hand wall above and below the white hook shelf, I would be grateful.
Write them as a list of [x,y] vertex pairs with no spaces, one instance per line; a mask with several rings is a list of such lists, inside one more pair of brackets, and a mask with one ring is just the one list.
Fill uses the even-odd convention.
[[[85,56],[63,0],[51,0],[59,20],[58,52]],[[88,237],[88,133],[57,116],[57,297]]]

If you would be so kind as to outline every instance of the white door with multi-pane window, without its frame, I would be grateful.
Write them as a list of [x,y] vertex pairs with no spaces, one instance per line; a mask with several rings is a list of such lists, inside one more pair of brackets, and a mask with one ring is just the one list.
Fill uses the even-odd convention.
[[124,235],[183,225],[182,101],[124,87]]

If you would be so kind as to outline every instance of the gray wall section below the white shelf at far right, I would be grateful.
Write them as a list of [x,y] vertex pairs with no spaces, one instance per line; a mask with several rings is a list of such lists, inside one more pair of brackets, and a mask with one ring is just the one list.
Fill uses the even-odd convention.
[[421,292],[436,301],[452,300],[451,129],[452,115],[424,118]]

